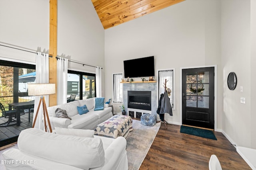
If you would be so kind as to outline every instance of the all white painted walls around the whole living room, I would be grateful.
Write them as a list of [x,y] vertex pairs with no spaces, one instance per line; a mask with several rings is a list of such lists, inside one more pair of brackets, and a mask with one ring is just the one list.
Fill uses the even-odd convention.
[[[58,0],[57,55],[102,67],[102,96],[106,99],[112,98],[112,76],[124,72],[124,60],[154,56],[156,71],[175,69],[176,107],[173,116],[167,115],[168,123],[175,125],[182,124],[182,68],[214,65],[214,130],[236,146],[256,149],[254,9],[254,0],[185,0],[104,29],[90,0]],[[45,0],[1,0],[1,44],[48,53],[49,13]],[[2,46],[0,59],[35,64],[34,54]],[[95,68],[77,63],[69,63],[68,69],[95,72]],[[230,72],[238,78],[235,90],[229,90],[226,83]],[[245,104],[240,97],[246,98]],[[119,105],[113,104],[116,112]]]

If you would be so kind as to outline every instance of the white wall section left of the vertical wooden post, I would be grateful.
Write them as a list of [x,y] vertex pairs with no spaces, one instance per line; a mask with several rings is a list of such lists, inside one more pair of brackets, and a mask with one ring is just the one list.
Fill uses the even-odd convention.
[[[0,44],[28,51],[49,49],[49,2],[0,0]],[[36,54],[0,46],[1,59],[35,62]]]

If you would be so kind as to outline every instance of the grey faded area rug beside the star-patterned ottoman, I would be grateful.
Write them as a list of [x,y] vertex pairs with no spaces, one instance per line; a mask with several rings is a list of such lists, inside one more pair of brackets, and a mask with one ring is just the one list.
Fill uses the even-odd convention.
[[126,152],[128,158],[128,170],[138,170],[150,149],[161,123],[154,126],[140,124],[138,120],[132,120],[132,128],[126,137]]

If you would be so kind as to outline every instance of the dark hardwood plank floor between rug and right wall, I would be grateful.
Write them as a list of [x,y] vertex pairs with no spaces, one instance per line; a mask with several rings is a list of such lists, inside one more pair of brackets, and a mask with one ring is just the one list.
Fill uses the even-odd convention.
[[180,125],[161,124],[140,170],[208,170],[215,154],[223,170],[250,170],[236,149],[220,132],[217,141],[180,133]]

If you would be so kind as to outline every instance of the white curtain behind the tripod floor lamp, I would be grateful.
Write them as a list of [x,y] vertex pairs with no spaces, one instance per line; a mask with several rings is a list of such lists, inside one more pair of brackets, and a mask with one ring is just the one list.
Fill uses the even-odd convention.
[[[49,55],[41,54],[38,52],[36,54],[36,83],[49,83]],[[49,95],[44,96],[46,106],[48,107],[49,103]],[[36,111],[38,108],[38,104],[40,101],[40,96],[35,96],[35,104],[34,104],[34,115],[33,122],[36,116]],[[40,109],[38,111],[38,116],[36,118],[35,128],[44,129],[44,124],[42,123],[43,119],[43,106],[41,102]]]

